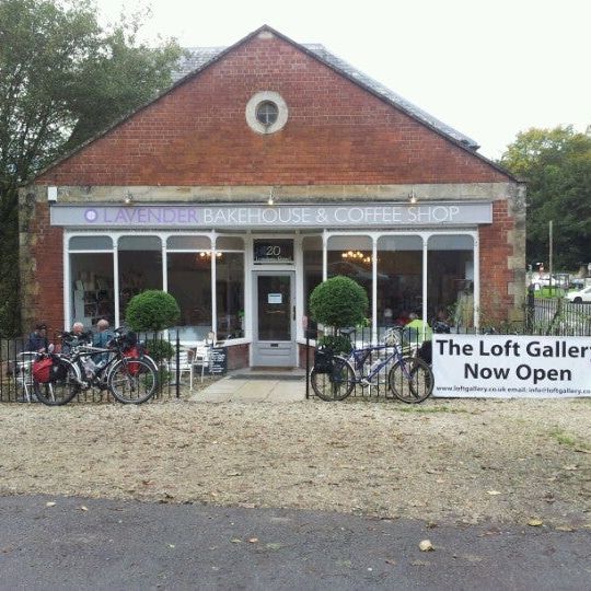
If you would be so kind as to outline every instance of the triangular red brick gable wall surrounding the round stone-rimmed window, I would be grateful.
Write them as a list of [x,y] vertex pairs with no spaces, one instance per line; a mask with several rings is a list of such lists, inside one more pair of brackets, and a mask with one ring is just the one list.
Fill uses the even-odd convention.
[[[287,102],[255,134],[245,105]],[[506,175],[293,45],[255,37],[38,182],[53,185],[308,185],[506,182]]]

